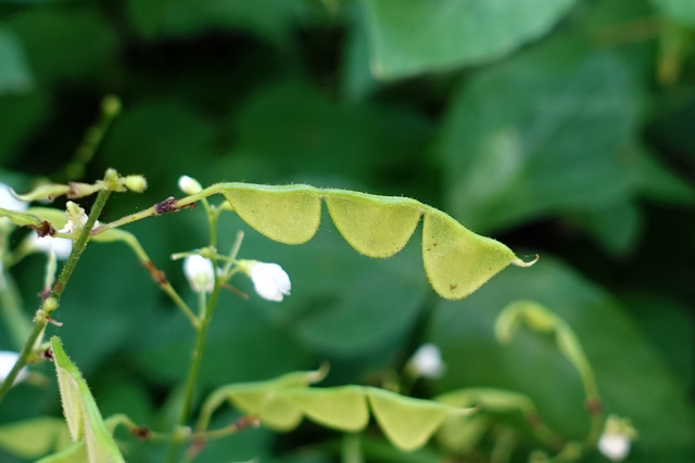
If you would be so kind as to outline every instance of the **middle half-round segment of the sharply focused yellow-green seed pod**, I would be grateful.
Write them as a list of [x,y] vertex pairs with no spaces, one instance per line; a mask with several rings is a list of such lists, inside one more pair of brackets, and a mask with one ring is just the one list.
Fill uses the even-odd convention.
[[369,257],[391,257],[401,250],[422,214],[415,201],[359,193],[327,196],[326,205],[340,234]]

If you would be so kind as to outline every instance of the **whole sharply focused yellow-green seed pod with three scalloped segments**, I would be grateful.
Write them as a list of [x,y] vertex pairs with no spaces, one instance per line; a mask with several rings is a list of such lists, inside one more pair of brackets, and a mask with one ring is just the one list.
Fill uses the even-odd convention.
[[397,253],[422,215],[425,270],[434,290],[447,299],[466,297],[509,263],[530,265],[502,243],[477,235],[446,214],[406,197],[301,184],[219,183],[208,191],[223,193],[239,217],[256,231],[287,244],[304,243],[314,236],[325,198],[342,236],[370,257]]

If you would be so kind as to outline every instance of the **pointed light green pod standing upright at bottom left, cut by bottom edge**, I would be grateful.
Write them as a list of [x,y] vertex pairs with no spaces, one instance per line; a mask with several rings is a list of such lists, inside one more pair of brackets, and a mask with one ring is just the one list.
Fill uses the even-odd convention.
[[51,338],[53,362],[65,421],[74,441],[84,441],[90,463],[125,462],[106,428],[87,383],[70,360],[58,336]]

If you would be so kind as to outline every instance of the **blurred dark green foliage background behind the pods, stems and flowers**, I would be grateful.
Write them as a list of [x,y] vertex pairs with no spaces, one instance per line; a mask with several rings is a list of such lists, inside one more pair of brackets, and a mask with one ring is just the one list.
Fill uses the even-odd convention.
[[[416,394],[519,390],[551,427],[579,438],[587,429],[580,382],[553,343],[527,331],[513,346],[494,340],[495,314],[531,298],[577,332],[606,412],[632,419],[640,438],[629,461],[691,462],[694,40],[692,0],[0,0],[3,180],[26,190],[54,175],[101,99],[115,94],[123,112],[79,180],[114,167],[144,175],[150,189],[114,197],[106,220],[179,195],[184,173],[431,204],[540,262],[443,301],[415,237],[374,260],[327,215],[312,242],[290,247],[226,217],[220,249],[245,230],[241,257],[281,263],[292,296],[266,303],[235,281],[251,297],[222,298],[201,391],[324,359],[327,384],[366,384],[433,342],[447,373]],[[193,303],[168,256],[206,244],[203,211],[127,230]],[[33,256],[12,269],[27,313],[42,266]],[[166,400],[192,334],[135,256],[121,244],[90,246],[58,319],[64,325],[51,332],[104,415],[168,426]],[[0,347],[14,348],[7,337]],[[0,421],[58,413],[53,386],[21,385]],[[157,461],[156,446],[119,437],[128,461]],[[312,426],[249,430],[211,443],[200,461],[333,461],[336,437]]]

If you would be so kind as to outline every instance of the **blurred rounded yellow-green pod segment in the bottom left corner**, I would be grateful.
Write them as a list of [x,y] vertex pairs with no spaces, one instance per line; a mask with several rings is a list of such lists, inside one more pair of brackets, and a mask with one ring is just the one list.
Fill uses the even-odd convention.
[[0,426],[0,449],[23,459],[37,459],[70,443],[65,422],[56,417],[36,417]]

